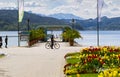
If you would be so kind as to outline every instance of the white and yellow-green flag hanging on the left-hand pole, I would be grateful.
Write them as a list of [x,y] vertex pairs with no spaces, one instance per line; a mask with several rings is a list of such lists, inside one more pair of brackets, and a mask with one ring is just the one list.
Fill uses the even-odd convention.
[[24,16],[24,0],[18,0],[18,22],[22,22]]

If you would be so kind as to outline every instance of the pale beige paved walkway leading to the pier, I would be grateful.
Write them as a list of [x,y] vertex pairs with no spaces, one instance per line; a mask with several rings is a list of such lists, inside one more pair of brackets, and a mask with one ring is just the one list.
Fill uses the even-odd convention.
[[64,77],[64,55],[79,51],[80,47],[69,47],[60,43],[60,49],[45,49],[45,43],[35,47],[0,49],[6,57],[0,59],[0,77]]

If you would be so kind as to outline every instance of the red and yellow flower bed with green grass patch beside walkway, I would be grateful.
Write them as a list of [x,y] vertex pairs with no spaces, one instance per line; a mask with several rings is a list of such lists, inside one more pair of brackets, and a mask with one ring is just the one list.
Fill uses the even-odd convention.
[[[72,76],[77,74],[98,74],[108,68],[120,67],[120,47],[90,47],[80,52],[65,55],[67,64],[64,74]],[[74,77],[74,76],[72,76]]]

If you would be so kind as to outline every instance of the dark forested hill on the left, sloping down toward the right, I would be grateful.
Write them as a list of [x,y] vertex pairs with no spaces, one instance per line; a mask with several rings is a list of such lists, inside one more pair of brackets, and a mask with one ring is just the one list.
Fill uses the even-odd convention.
[[[0,10],[0,30],[17,30],[17,10]],[[20,30],[27,29],[27,20],[30,19],[30,26],[38,25],[65,25],[62,20],[43,17],[37,14],[25,12],[23,22],[20,24]]]

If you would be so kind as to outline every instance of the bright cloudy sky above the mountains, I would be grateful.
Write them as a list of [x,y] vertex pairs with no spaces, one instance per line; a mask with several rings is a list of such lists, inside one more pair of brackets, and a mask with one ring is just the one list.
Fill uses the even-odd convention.
[[[17,0],[0,0],[0,8],[17,8]],[[50,15],[69,13],[88,19],[97,17],[97,0],[24,0],[24,10]],[[120,17],[120,0],[104,0],[101,16]]]

